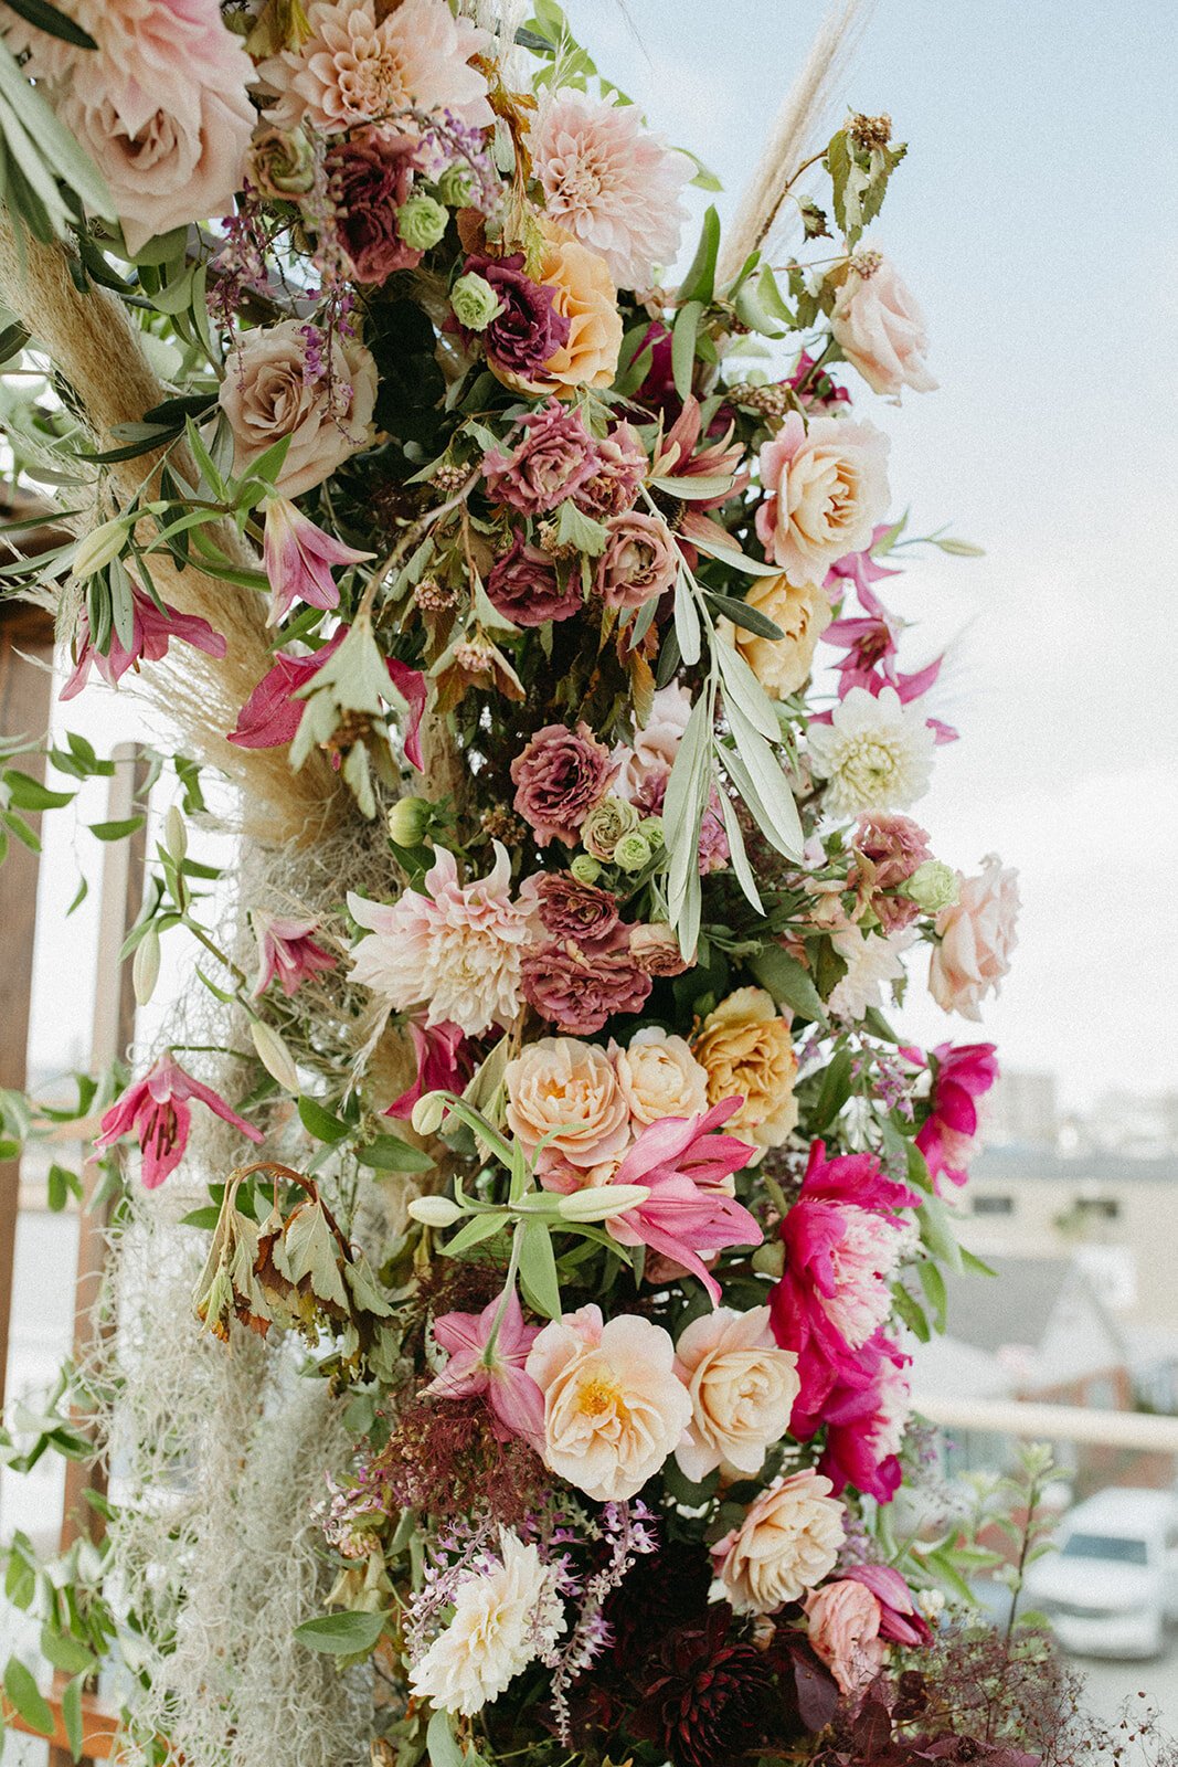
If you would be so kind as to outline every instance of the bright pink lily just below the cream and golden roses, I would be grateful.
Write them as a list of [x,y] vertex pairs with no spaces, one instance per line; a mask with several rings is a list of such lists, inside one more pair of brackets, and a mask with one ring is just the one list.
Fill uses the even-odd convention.
[[756,1149],[735,1134],[715,1134],[740,1106],[721,1099],[696,1117],[662,1117],[638,1136],[615,1172],[613,1184],[645,1184],[650,1194],[636,1209],[613,1216],[606,1230],[620,1246],[648,1246],[682,1263],[721,1299],[699,1253],[726,1246],[759,1246],[765,1239],[749,1210],[721,1186],[747,1166]]

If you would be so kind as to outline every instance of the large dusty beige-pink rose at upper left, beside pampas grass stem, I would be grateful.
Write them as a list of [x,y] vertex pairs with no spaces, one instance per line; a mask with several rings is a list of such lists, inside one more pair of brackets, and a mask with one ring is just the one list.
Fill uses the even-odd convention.
[[376,406],[376,362],[362,343],[339,336],[323,355],[323,373],[313,376],[307,332],[298,320],[244,334],[217,394],[233,431],[233,472],[245,472],[251,461],[290,436],[277,489],[284,497],[302,497],[367,444]]

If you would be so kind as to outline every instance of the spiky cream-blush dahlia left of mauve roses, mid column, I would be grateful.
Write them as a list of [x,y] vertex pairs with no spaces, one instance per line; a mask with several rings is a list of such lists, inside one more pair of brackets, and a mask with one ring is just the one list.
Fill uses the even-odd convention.
[[440,846],[426,889],[406,889],[392,906],[348,892],[351,919],[371,935],[351,954],[351,979],[397,1012],[426,1004],[427,1025],[449,1020],[468,1037],[507,1028],[528,938],[528,915],[510,899],[507,848],[496,841],[487,876],[461,885],[454,853]]

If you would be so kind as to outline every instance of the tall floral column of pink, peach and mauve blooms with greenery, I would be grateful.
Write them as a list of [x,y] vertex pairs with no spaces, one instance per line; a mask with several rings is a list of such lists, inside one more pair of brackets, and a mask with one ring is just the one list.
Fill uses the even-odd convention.
[[[895,518],[872,403],[936,385],[864,242],[904,148],[850,115],[825,207],[788,191],[800,256],[722,274],[708,210],[676,279],[710,175],[551,0],[491,14],[0,9],[76,155],[44,134],[62,216],[28,171],[9,209],[164,376],[83,454],[12,426],[39,495],[46,452],[87,470],[0,569],[60,599],[62,698],[198,684],[125,954],[147,1002],[194,938],[228,1027],[79,1115],[120,1207],[207,1193],[184,1230],[226,1355],[286,1341],[339,1396],[288,1633],[367,1675],[348,1762],[841,1760],[887,1677],[934,1677],[961,1589],[888,1504],[996,1078],[888,1014],[927,979],[978,1020],[1017,915],[1012,871],[913,820],[955,732],[892,603],[915,548],[973,548]],[[297,806],[230,933],[189,855],[217,769],[245,818]],[[21,839],[71,797],[4,781]],[[193,1101],[240,1164],[187,1149]],[[182,1615],[132,1619],[182,1656]],[[162,1712],[191,1767],[230,1760],[161,1698],[129,1698],[136,1746]]]

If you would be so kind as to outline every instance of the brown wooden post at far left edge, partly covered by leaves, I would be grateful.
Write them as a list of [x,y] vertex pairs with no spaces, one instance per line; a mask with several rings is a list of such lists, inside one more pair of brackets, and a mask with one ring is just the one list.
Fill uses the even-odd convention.
[[[23,652],[23,656],[21,656]],[[26,661],[28,657],[35,661]],[[53,620],[28,603],[0,603],[0,735],[41,740],[49,724],[53,677]],[[46,668],[37,668],[44,663]],[[35,779],[44,777],[44,758],[23,756],[18,765]],[[30,818],[34,827],[39,818]],[[0,868],[0,1087],[25,1090],[28,1078],[28,1005],[37,931],[39,855],[9,836],[9,855]],[[9,1368],[9,1313],[12,1309],[12,1255],[19,1207],[19,1159],[0,1163],[0,1407]]]

